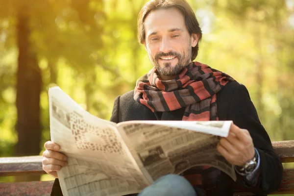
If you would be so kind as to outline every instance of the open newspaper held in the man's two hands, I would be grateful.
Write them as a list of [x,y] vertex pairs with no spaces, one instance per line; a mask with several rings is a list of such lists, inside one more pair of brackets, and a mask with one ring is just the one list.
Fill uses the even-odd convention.
[[217,151],[231,121],[113,123],[82,109],[59,87],[49,89],[51,140],[68,157],[58,173],[64,196],[139,193],[160,176],[212,166],[234,180],[234,167]]

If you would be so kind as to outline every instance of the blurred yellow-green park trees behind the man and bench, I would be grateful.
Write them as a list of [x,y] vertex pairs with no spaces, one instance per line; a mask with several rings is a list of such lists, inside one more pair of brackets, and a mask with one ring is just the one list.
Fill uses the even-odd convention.
[[[272,141],[294,140],[294,0],[188,1],[203,31],[196,61],[245,84]],[[137,41],[146,2],[0,0],[0,157],[42,154],[55,84],[109,120],[152,67]]]

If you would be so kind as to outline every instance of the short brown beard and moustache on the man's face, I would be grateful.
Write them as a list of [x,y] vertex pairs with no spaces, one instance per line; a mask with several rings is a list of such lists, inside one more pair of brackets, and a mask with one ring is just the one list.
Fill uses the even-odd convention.
[[[183,53],[178,53],[175,51],[170,51],[168,53],[164,53],[164,52],[159,52],[157,53],[154,57],[151,56],[151,61],[153,66],[155,67],[155,69],[157,70],[157,72],[159,72],[162,75],[165,76],[174,76],[174,75],[178,75],[182,72],[182,70],[189,64],[191,57],[192,57],[192,50],[191,50],[191,46],[189,46],[188,49],[186,49],[185,51],[183,51]],[[187,54],[187,56],[186,56]],[[165,57],[165,56],[175,56],[178,59],[177,64],[172,67],[171,63],[163,63],[163,67],[159,65],[159,58],[160,57]]]

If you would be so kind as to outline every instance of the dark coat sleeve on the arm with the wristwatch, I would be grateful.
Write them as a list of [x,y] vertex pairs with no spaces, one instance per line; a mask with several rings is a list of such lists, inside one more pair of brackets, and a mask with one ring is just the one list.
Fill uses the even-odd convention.
[[260,172],[254,187],[246,184],[239,174],[237,183],[254,194],[269,194],[279,188],[283,175],[283,166],[278,155],[273,151],[270,137],[260,123],[257,111],[244,85],[235,88],[229,105],[228,119],[240,128],[247,129],[254,147],[260,156]]

